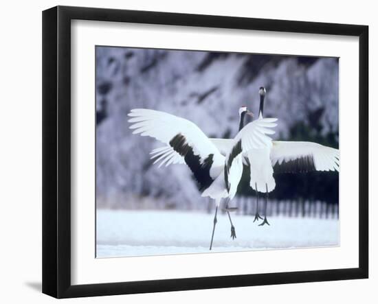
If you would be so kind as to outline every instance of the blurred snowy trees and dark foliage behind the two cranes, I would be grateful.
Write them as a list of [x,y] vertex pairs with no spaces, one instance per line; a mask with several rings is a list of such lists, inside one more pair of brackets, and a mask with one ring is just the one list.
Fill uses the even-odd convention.
[[[338,81],[337,58],[96,47],[100,206],[130,207],[142,198],[178,209],[206,204],[186,166],[153,165],[149,152],[159,143],[131,134],[131,108],[164,110],[194,121],[209,137],[232,138],[238,108],[257,113],[258,88],[265,86],[266,116],[279,119],[275,140],[337,148]],[[248,170],[239,193],[253,196]],[[271,198],[337,202],[334,173],[276,174],[276,183]]]

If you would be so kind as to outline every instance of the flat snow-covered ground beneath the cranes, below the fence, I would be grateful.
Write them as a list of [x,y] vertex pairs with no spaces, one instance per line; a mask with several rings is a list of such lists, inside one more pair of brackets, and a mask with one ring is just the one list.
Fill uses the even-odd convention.
[[[212,214],[183,211],[97,211],[97,257],[208,253]],[[258,226],[252,216],[219,214],[213,250],[262,250],[338,246],[339,221],[315,218],[269,218]],[[261,220],[260,220],[261,222]]]

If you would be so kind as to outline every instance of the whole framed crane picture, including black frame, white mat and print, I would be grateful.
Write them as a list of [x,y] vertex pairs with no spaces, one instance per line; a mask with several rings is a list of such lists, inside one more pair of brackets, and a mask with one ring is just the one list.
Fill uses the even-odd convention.
[[368,277],[368,27],[43,12],[43,292]]

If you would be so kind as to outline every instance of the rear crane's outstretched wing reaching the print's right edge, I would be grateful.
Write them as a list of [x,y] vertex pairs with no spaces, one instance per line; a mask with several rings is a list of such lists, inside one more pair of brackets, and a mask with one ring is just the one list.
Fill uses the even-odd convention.
[[273,141],[270,153],[274,173],[339,171],[340,151],[308,141]]

